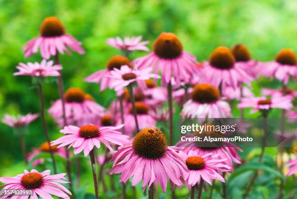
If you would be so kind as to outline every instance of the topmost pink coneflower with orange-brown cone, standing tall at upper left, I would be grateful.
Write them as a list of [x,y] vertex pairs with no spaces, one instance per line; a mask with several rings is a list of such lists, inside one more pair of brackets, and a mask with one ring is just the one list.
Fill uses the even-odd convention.
[[63,23],[57,17],[46,17],[40,27],[40,36],[33,38],[24,46],[25,57],[31,57],[40,48],[41,57],[49,59],[57,52],[70,54],[67,47],[80,54],[84,53],[81,43],[66,34]]

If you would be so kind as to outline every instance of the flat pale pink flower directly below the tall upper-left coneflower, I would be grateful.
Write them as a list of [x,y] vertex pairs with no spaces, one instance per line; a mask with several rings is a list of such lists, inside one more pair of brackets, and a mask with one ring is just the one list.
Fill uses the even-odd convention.
[[46,60],[42,60],[39,64],[38,62],[35,63],[19,63],[19,66],[16,68],[19,70],[15,72],[14,75],[29,75],[35,77],[48,77],[48,76],[59,76],[59,70],[62,70],[62,66],[60,65],[53,65],[53,61],[47,62]]

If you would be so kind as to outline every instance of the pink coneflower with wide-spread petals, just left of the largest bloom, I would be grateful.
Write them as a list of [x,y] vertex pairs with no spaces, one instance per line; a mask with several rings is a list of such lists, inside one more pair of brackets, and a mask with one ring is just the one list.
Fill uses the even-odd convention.
[[90,151],[96,146],[100,148],[102,142],[109,150],[113,150],[110,143],[122,146],[128,142],[128,136],[118,132],[124,125],[116,127],[98,127],[92,124],[82,127],[66,126],[61,133],[66,135],[51,142],[51,145],[59,145],[58,148],[69,145],[74,148],[74,154],[78,154],[83,150],[84,156],[87,156]]

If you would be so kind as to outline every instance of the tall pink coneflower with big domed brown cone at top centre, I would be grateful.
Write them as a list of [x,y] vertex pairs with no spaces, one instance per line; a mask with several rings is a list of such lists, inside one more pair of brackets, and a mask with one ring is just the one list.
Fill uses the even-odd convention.
[[137,68],[153,67],[161,70],[162,84],[170,83],[171,75],[179,84],[190,82],[197,73],[196,58],[183,50],[181,41],[173,33],[161,33],[155,40],[153,52],[133,61]]

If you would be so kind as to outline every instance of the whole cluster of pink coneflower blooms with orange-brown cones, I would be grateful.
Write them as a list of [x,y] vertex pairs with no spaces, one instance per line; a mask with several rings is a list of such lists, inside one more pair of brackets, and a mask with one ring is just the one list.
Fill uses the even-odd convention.
[[[143,189],[148,187],[150,191],[152,184],[156,187],[160,184],[165,192],[167,182],[173,189],[184,183],[188,187],[202,186],[204,181],[212,184],[212,179],[225,182],[222,174],[231,172],[233,163],[241,163],[237,153],[241,149],[225,143],[215,148],[180,147],[179,144],[172,146],[170,137],[168,145],[165,134],[156,128],[156,122],[172,122],[172,98],[181,105],[181,116],[186,118],[231,117],[231,106],[226,99],[239,99],[239,109],[252,107],[252,112],[266,113],[272,108],[280,108],[287,110],[289,117],[297,117],[297,112],[292,110],[292,100],[297,97],[297,92],[286,86],[290,77],[297,78],[297,58],[292,50],[283,49],[274,61],[261,63],[252,60],[244,45],[236,45],[231,50],[218,47],[209,61],[198,63],[195,56],[183,50],[175,34],[161,33],[152,52],[131,61],[133,50],[148,51],[148,41],[141,40],[141,36],[107,40],[108,45],[120,49],[125,56],[115,55],[108,61],[106,69],[91,74],[85,81],[99,83],[100,91],[114,89],[117,99],[105,110],[80,88],[66,90],[48,110],[64,135],[34,149],[26,160],[33,160],[40,152],[67,158],[67,151],[74,148],[74,154],[83,151],[84,156],[90,155],[91,163],[95,164],[94,149],[100,148],[102,143],[111,151],[111,161],[114,162],[111,175],[121,173],[119,181],[124,183],[132,178],[132,186],[142,180]],[[48,76],[62,78],[62,66],[57,58],[58,53],[70,53],[67,48],[84,53],[81,43],[66,34],[59,19],[46,18],[40,36],[24,47],[25,57],[40,50],[44,60],[40,64],[20,63],[14,75],[29,75],[39,80]],[[55,64],[47,61],[51,57],[55,57]],[[264,89],[263,97],[254,97],[250,83],[259,76],[278,79],[283,83],[283,89]],[[158,79],[161,79],[161,86],[157,86]],[[167,101],[169,110],[164,108]],[[38,115],[6,115],[3,122],[18,128],[28,125],[36,117]],[[98,162],[102,165],[100,158]],[[32,166],[43,162],[44,159],[36,159]],[[292,168],[288,175],[297,171],[296,163],[296,160],[289,163]],[[50,199],[50,195],[66,199],[71,193],[60,184],[65,183],[62,181],[65,175],[49,175],[49,170],[39,173],[33,169],[16,177],[0,178],[0,182],[5,183],[1,186],[4,189],[33,190],[32,199],[38,196]],[[94,183],[98,198],[96,178]]]

